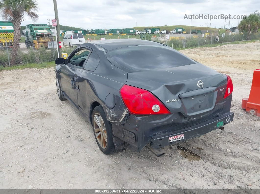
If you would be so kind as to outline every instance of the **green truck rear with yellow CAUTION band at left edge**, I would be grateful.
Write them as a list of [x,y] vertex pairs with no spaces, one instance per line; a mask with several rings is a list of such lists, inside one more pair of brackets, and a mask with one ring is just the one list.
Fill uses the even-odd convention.
[[12,47],[14,42],[14,25],[10,21],[0,21],[0,48]]

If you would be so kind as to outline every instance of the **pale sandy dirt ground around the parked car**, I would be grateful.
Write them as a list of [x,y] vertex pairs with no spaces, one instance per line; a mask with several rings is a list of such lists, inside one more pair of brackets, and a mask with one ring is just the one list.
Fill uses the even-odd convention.
[[241,109],[260,42],[181,52],[232,77],[235,117],[159,158],[148,147],[104,155],[92,126],[59,100],[54,68],[1,71],[0,188],[260,188],[260,118]]

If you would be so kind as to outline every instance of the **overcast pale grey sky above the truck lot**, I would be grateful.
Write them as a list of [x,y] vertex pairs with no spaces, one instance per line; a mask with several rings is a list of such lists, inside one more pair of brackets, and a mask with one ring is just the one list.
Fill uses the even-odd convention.
[[[214,3],[216,2],[216,3]],[[35,23],[47,24],[54,19],[53,0],[38,0],[39,19]],[[248,15],[260,9],[259,0],[57,0],[61,25],[102,29],[138,26],[190,25],[187,15]],[[2,19],[2,18],[0,18]],[[225,20],[194,19],[192,26],[223,27]],[[233,26],[239,20],[231,20]],[[22,25],[33,23],[26,18]]]

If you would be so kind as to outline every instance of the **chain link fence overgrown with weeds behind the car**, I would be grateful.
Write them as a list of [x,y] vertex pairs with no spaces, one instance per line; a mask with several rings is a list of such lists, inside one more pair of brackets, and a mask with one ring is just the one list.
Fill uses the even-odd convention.
[[[223,35],[224,34],[224,35]],[[247,32],[226,32],[225,30],[219,31],[205,31],[200,34],[167,34],[166,35],[155,35],[155,34],[140,34],[140,35],[86,35],[84,38],[86,42],[93,42],[100,40],[101,38],[106,39],[142,39],[151,40],[166,44],[174,49],[201,47],[216,45],[225,42],[243,41],[248,39],[259,39],[260,33],[250,34]],[[43,38],[42,38],[43,39]],[[50,37],[47,42],[42,41],[39,47],[32,42],[20,42],[20,48],[17,51],[17,55],[14,55],[11,47],[0,47],[0,67],[21,65],[28,63],[44,63],[54,62],[58,58],[57,46],[55,38]],[[40,41],[38,41],[40,42]],[[70,54],[75,47],[62,47],[61,52]]]

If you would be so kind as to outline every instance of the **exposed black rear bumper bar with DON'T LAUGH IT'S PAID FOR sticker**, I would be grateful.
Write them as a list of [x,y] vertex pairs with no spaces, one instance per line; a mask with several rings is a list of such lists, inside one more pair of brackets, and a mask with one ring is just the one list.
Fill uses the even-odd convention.
[[220,116],[220,118],[211,119],[205,123],[194,125],[177,131],[176,133],[161,134],[152,137],[151,147],[161,148],[164,146],[176,144],[188,139],[193,139],[203,134],[216,130],[231,121],[233,121],[234,113],[229,112]]

